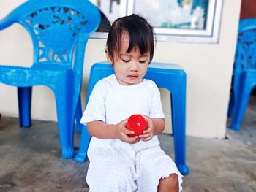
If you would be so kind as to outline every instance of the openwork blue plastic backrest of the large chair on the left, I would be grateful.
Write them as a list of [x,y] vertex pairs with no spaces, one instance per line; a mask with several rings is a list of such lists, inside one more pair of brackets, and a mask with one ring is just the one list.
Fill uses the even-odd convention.
[[0,20],[0,30],[20,23],[31,35],[34,64],[72,68],[79,37],[86,44],[99,22],[99,10],[86,0],[30,0]]

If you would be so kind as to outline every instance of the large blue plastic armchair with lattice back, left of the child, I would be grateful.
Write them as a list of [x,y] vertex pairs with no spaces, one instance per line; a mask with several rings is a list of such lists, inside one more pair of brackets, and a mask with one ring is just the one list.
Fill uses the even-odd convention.
[[18,87],[22,127],[31,126],[32,86],[45,85],[55,93],[62,158],[75,155],[74,120],[76,110],[77,122],[81,117],[85,46],[99,22],[97,7],[85,0],[26,1],[0,20],[0,30],[13,23],[26,28],[34,45],[31,67],[0,65],[0,82]]

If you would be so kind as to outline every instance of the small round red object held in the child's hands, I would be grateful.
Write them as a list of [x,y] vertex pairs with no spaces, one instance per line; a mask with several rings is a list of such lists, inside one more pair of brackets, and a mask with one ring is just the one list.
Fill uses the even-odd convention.
[[127,129],[134,131],[134,134],[130,134],[129,137],[139,136],[143,134],[146,129],[146,120],[141,115],[132,115],[129,117],[127,122]]

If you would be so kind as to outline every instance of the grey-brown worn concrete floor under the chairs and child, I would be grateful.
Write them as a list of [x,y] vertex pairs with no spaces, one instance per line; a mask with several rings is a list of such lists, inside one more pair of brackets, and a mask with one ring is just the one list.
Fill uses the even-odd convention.
[[[2,114],[3,115],[3,114]],[[252,98],[241,131],[227,129],[227,139],[187,137],[184,191],[256,191],[256,99]],[[173,157],[173,138],[159,137]],[[79,134],[75,134],[78,147]],[[76,149],[77,150],[77,149]],[[0,122],[0,191],[88,191],[89,162],[60,158],[55,122],[34,120],[31,128],[19,128],[17,118]]]

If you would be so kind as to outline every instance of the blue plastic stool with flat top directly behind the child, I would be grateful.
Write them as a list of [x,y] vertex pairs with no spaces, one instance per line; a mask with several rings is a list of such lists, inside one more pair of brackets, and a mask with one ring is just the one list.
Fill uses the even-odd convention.
[[[86,101],[96,82],[113,74],[113,67],[108,62],[97,63],[91,67],[89,88]],[[154,80],[159,88],[167,88],[171,93],[171,110],[173,123],[173,140],[175,161],[181,174],[189,174],[186,164],[186,73],[175,64],[151,63],[145,78]],[[80,147],[75,161],[84,162],[90,141],[86,126],[83,127]]]

